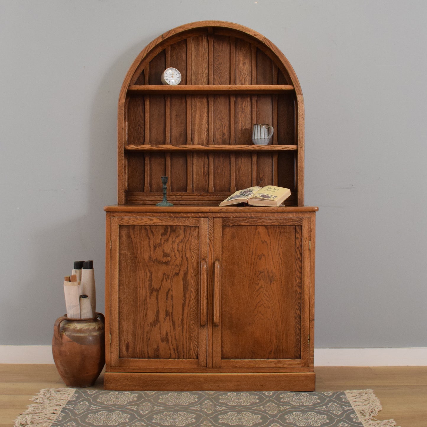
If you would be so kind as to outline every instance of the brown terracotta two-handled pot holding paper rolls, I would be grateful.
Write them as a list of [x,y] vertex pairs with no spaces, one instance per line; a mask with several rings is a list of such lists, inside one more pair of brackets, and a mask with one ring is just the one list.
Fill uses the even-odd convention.
[[[98,319],[99,318],[99,319]],[[52,354],[56,369],[69,387],[94,385],[105,365],[105,318],[56,319]]]

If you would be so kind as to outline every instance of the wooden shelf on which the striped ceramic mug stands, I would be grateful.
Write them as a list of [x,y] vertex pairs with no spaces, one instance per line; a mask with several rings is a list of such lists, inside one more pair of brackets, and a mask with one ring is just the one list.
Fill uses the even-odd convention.
[[296,151],[297,145],[125,145],[126,151]]

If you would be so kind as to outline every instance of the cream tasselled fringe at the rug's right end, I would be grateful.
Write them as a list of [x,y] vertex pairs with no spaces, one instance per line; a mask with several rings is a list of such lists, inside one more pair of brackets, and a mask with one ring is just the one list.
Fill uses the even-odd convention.
[[395,427],[395,420],[378,421],[374,416],[383,409],[374,390],[347,390],[345,395],[363,424],[363,427]]

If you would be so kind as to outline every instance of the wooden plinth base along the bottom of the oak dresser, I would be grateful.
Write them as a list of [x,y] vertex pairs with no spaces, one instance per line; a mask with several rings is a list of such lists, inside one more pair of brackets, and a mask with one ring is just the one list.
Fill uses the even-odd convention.
[[268,374],[158,374],[105,372],[105,390],[313,391],[314,372]]

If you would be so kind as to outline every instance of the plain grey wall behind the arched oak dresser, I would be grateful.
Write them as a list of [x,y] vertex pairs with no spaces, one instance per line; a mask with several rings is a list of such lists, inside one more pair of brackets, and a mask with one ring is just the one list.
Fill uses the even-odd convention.
[[287,56],[318,205],[316,347],[427,346],[427,2],[0,3],[0,344],[50,344],[62,277],[93,259],[116,199],[116,108],[152,39],[228,20]]

